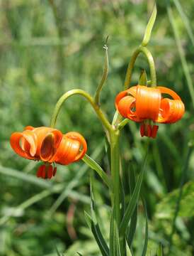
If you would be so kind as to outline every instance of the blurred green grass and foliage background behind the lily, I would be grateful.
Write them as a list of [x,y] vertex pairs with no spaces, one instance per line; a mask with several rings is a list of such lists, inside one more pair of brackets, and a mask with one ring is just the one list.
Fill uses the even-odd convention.
[[[193,43],[180,13],[172,1],[173,16],[181,37],[193,80]],[[193,255],[194,152],[188,159],[187,183],[183,187],[181,209],[168,253],[181,170],[188,142],[194,139],[193,106],[186,78],[166,13],[166,1],[157,1],[158,16],[149,50],[156,62],[159,85],[181,95],[186,114],[176,124],[160,125],[152,141],[142,195],[147,202],[149,243],[147,255],[156,255],[159,245],[164,255]],[[181,1],[194,31],[193,1]],[[115,95],[122,90],[127,63],[142,41],[154,1],[148,0],[0,0],[0,255],[34,256],[99,255],[84,210],[89,210],[89,170],[83,162],[59,166],[53,181],[39,181],[34,174],[38,163],[20,159],[11,150],[11,132],[26,125],[49,125],[55,103],[63,92],[80,87],[93,94],[103,73],[103,44],[108,39],[110,70],[103,88],[101,105],[112,119]],[[180,11],[180,10],[179,10]],[[138,58],[132,76],[148,65]],[[147,72],[148,73],[148,72]],[[149,73],[148,73],[149,75]],[[81,112],[80,112],[81,111]],[[103,128],[90,106],[73,97],[63,106],[57,128],[79,131],[88,140],[89,155],[103,169],[108,159],[103,148]],[[135,173],[145,153],[145,139],[138,125],[130,122],[122,134],[125,189],[129,190],[128,166]],[[105,186],[96,177],[95,198],[103,234],[108,239],[110,200]],[[169,218],[161,218],[168,214]],[[144,210],[139,205],[135,255],[142,251]]]

